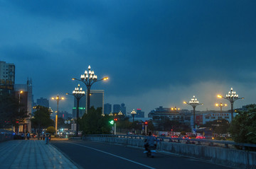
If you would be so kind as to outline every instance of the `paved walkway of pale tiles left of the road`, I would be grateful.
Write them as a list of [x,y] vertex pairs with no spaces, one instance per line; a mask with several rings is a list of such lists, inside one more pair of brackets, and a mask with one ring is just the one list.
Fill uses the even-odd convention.
[[0,142],[0,169],[74,168],[77,167],[60,151],[43,140]]

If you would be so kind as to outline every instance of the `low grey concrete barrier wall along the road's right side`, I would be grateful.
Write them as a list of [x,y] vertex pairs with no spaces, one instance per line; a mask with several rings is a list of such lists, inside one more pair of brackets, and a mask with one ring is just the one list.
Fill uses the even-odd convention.
[[[142,139],[83,136],[83,140],[144,147],[144,141]],[[159,142],[157,149],[183,156],[201,158],[213,163],[228,165],[235,168],[256,169],[256,152],[253,151],[242,151],[232,148],[220,148],[196,144],[179,144],[164,141]]]

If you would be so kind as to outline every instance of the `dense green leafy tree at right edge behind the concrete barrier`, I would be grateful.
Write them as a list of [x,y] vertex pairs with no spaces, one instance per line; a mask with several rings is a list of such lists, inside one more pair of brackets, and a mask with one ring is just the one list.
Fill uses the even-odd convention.
[[246,105],[231,122],[229,132],[235,142],[256,144],[256,105]]

